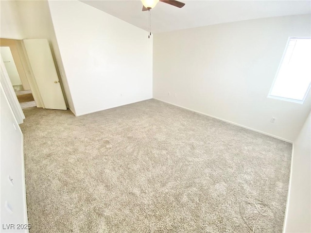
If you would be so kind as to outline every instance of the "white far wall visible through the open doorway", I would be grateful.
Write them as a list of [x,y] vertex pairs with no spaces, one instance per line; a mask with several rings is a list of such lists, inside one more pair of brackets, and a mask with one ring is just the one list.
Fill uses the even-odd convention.
[[0,53],[12,85],[22,85],[10,47],[0,47]]

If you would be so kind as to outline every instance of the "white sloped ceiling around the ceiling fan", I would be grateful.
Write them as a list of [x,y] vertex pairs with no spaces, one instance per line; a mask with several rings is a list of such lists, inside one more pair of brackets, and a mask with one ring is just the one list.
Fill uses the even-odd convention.
[[[140,0],[81,0],[86,4],[148,31],[148,11]],[[158,2],[151,10],[152,33],[265,17],[311,14],[305,0],[181,0],[183,8]]]

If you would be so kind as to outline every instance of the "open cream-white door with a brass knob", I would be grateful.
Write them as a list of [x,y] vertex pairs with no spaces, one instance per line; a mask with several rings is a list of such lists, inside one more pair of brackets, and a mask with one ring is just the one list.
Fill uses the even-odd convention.
[[66,110],[48,40],[31,39],[23,42],[45,108]]

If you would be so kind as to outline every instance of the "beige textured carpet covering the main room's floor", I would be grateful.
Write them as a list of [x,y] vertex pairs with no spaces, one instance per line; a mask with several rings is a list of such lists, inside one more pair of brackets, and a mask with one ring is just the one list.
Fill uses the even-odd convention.
[[31,233],[282,231],[289,143],[157,100],[24,113]]

